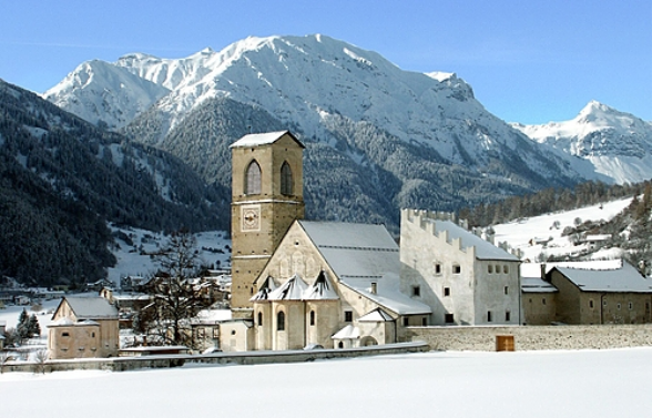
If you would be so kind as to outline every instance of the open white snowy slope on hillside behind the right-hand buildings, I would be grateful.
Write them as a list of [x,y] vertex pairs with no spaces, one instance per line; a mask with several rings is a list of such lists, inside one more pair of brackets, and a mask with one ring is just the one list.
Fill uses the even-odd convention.
[[[493,227],[496,231],[496,243],[509,243],[512,248],[518,248],[523,252],[522,259],[529,259],[532,262],[534,262],[537,256],[541,253],[546,255],[580,253],[582,249],[585,249],[585,246],[573,246],[568,241],[568,237],[561,236],[563,228],[567,226],[574,226],[575,218],[580,218],[582,222],[600,220],[610,221],[622,212],[631,202],[632,198],[629,197],[604,203],[602,205],[588,206],[574,211],[552,213],[496,225]],[[552,227],[556,222],[559,222],[558,228]],[[532,238],[550,238],[551,241],[546,246],[541,244],[530,245],[530,239]],[[620,253],[603,253],[602,256],[619,257]]]

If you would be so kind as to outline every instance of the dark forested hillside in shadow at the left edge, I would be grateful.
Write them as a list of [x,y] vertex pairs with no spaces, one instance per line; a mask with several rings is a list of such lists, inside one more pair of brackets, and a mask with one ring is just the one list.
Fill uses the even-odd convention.
[[108,222],[226,230],[225,195],[170,154],[0,81],[0,274],[95,281],[114,263]]

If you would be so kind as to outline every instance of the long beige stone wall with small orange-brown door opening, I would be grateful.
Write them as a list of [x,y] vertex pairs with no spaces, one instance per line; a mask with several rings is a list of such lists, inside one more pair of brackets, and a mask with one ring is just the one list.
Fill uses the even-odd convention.
[[496,337],[511,335],[516,350],[605,349],[652,346],[652,324],[562,326],[408,327],[405,337],[434,350],[496,350]]

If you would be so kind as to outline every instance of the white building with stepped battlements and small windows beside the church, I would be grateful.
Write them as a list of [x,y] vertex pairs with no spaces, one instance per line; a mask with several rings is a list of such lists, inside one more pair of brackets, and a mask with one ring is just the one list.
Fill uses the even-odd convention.
[[427,211],[401,211],[400,289],[435,325],[521,324],[520,261]]

